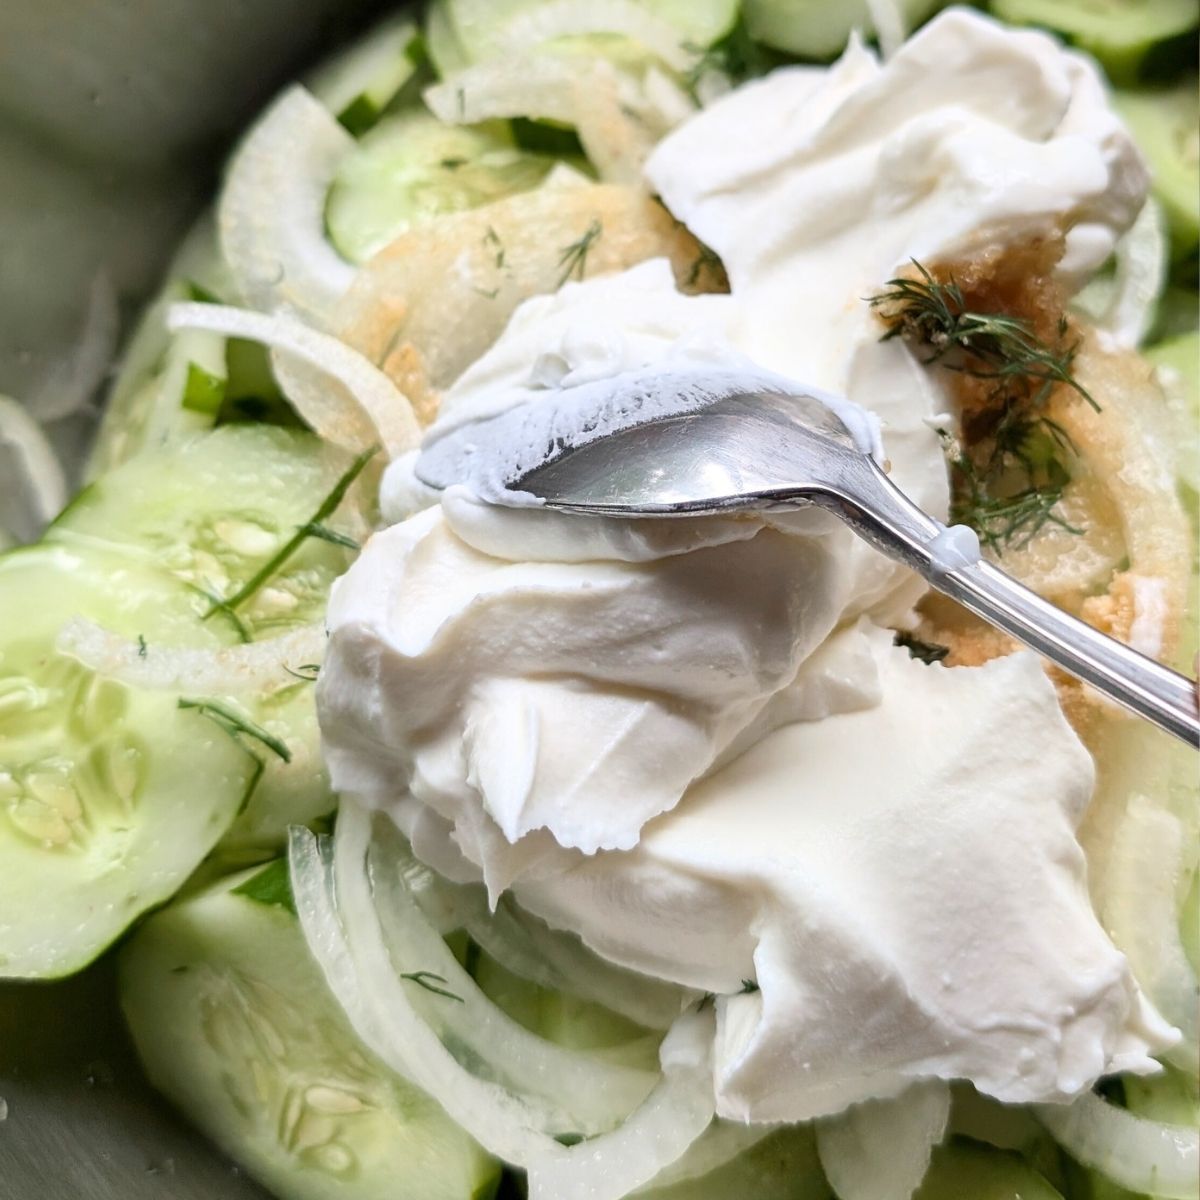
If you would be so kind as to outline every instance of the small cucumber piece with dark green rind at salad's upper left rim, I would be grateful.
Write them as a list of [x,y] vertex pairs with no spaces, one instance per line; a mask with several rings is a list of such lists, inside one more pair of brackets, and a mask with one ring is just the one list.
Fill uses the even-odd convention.
[[392,18],[322,66],[308,90],[349,133],[360,137],[415,79],[421,62],[416,25]]

